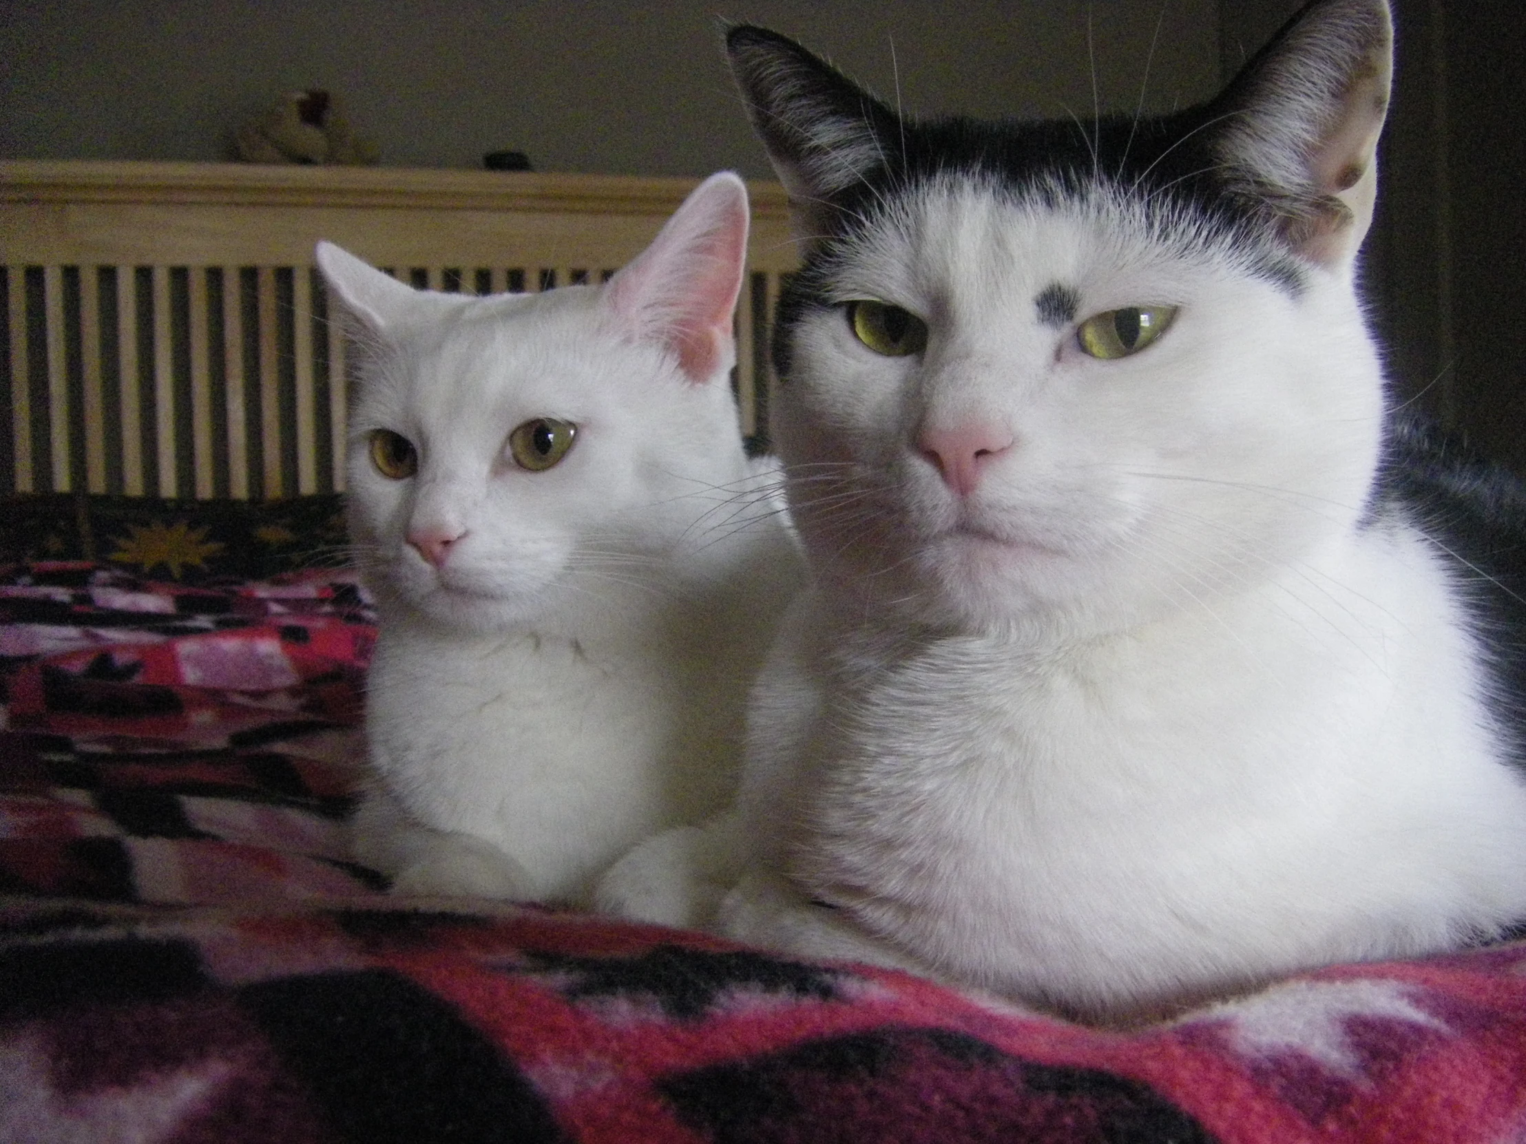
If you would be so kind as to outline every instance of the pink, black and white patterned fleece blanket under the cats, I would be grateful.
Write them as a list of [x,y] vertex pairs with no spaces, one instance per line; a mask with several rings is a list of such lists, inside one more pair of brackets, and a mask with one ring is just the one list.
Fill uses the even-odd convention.
[[1131,1033],[345,856],[343,577],[0,583],[0,1139],[1526,1141],[1526,944]]

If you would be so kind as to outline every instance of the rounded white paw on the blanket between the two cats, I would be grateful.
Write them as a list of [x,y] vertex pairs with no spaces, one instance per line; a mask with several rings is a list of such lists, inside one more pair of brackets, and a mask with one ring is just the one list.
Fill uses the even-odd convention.
[[600,914],[674,929],[702,929],[736,882],[731,824],[653,834],[609,868],[594,889]]

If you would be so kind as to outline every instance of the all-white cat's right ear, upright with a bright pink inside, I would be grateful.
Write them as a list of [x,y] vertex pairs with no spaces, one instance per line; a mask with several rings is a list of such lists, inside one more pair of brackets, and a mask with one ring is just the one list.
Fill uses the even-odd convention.
[[736,360],[732,313],[748,255],[748,189],[729,171],[684,200],[652,246],[617,273],[607,305],[636,337],[673,351],[702,384]]

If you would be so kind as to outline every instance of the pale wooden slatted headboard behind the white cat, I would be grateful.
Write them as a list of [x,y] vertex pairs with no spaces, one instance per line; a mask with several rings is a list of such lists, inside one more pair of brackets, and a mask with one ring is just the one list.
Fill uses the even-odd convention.
[[[607,278],[685,178],[233,163],[0,162],[0,493],[273,497],[343,488],[331,239],[415,285]],[[761,441],[768,323],[794,268],[752,183],[737,307],[742,433]]]

